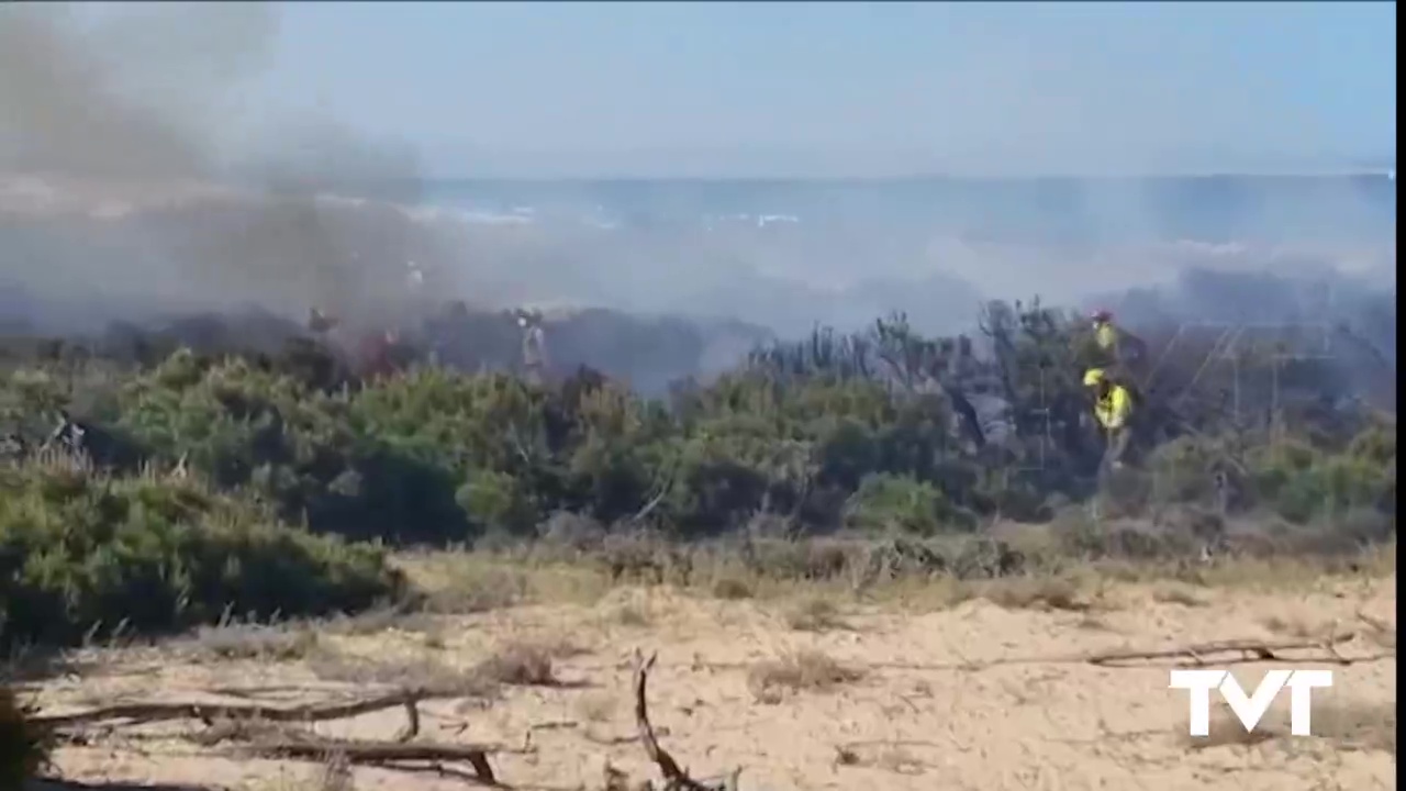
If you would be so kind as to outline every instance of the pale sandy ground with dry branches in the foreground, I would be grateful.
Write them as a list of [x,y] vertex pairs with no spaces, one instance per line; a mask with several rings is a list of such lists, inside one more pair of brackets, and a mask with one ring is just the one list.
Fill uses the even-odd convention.
[[[167,653],[114,657],[83,677],[48,683],[46,711],[125,700],[219,700],[212,687],[335,692],[337,662],[471,666],[508,645],[550,646],[555,687],[509,685],[502,697],[426,702],[420,739],[523,746],[494,759],[516,788],[602,788],[605,764],[636,781],[655,777],[637,740],[630,701],[634,647],[658,652],[650,705],[661,742],[696,777],[741,767],[762,790],[1114,790],[1285,791],[1395,788],[1395,577],[1320,583],[1301,594],[1167,586],[1108,587],[1064,608],[987,600],[914,612],[837,598],[838,614],[810,608],[824,629],[797,629],[796,601],[723,601],[666,590],[616,590],[589,607],[522,607],[384,631],[319,635],[291,662],[190,663]],[[1000,600],[1000,597],[993,597]],[[1088,608],[1083,608],[1088,605]],[[1367,618],[1364,619],[1362,615]],[[1375,624],[1372,626],[1371,624]],[[1389,632],[1382,628],[1389,626]],[[1164,649],[1225,639],[1292,640],[1355,632],[1344,656],[1391,654],[1336,667],[1315,694],[1316,736],[1288,736],[1288,694],[1253,740],[1212,704],[1212,738],[1187,736],[1185,692],[1167,688],[1167,660],[1095,667],[1069,654]],[[821,652],[858,677],[830,687],[768,687],[758,670],[797,652]],[[1292,652],[1291,652],[1292,654]],[[814,654],[813,654],[814,656]],[[1308,662],[1277,667],[1327,667]],[[321,659],[319,659],[321,657]],[[814,660],[813,662],[818,662]],[[983,663],[998,663],[986,664]],[[967,667],[962,667],[962,666]],[[1267,664],[1237,664],[1247,688]],[[321,678],[319,678],[321,676]],[[364,691],[364,690],[363,690]],[[456,732],[461,723],[467,729]],[[385,711],[318,725],[323,735],[391,738],[404,714]],[[529,738],[530,735],[530,738]],[[155,736],[155,735],[153,735]],[[231,790],[319,788],[323,767],[201,757],[153,738],[96,738],[65,747],[63,777],[201,784]],[[357,768],[354,788],[465,788],[461,780]]]

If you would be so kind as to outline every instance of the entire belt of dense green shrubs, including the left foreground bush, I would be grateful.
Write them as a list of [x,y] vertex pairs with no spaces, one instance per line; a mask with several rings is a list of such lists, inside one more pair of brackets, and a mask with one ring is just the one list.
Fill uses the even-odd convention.
[[[363,380],[307,341],[148,366],[31,346],[0,384],[4,633],[359,608],[401,593],[380,543],[921,539],[1095,495],[1104,515],[1178,510],[1208,535],[1240,515],[1348,543],[1395,532],[1395,418],[1344,401],[1329,362],[1285,362],[1277,339],[1208,365],[1211,339],[1152,338],[1133,464],[1098,480],[1083,322],[994,304],[981,327],[984,359],[897,317],[759,349],[666,400],[586,369],[541,387],[413,362]],[[1005,417],[977,415],[981,398]],[[79,453],[45,441],[63,411]]]

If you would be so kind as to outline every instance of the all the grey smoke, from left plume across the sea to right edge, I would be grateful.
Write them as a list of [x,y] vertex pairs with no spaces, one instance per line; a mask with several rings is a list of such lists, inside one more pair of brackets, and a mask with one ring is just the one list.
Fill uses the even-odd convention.
[[[986,298],[1073,304],[1194,267],[1353,270],[1395,293],[1395,184],[1381,180],[501,182],[434,215],[422,198],[446,198],[427,194],[413,146],[247,106],[278,14],[0,6],[0,319],[91,329],[254,304],[375,327],[461,298],[713,314],[786,335],[901,310],[955,332]],[[475,203],[512,222],[465,220]],[[1267,291],[1216,280],[1180,294],[1143,312]]]

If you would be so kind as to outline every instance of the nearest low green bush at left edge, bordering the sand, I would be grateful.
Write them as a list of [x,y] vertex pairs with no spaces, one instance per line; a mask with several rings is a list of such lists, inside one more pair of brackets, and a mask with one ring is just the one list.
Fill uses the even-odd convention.
[[277,522],[247,497],[70,464],[0,466],[7,643],[360,609],[398,595],[382,550]]

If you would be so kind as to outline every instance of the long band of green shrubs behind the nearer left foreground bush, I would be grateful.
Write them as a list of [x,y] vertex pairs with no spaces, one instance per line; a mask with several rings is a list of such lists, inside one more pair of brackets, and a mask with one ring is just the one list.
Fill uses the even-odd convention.
[[[94,453],[117,490],[138,486],[142,462],[184,460],[209,481],[204,497],[264,504],[240,524],[401,545],[512,543],[562,512],[690,539],[762,521],[787,535],[921,536],[1049,519],[1056,504],[1094,493],[1109,495],[1105,512],[1130,518],[1170,504],[1302,524],[1395,518],[1395,424],[1322,407],[1341,377],[1312,360],[1296,363],[1291,404],[1236,387],[1275,381],[1263,367],[1272,360],[1206,366],[1216,336],[1147,338],[1157,386],[1135,418],[1130,463],[1109,481],[1097,476],[1102,442],[1080,383],[1091,360],[1084,322],[1039,303],[993,303],[981,328],[990,362],[962,353],[969,339],[924,338],[903,317],[853,335],[821,329],[756,349],[706,386],[682,383],[666,401],[589,370],[553,386],[443,367],[343,381],[311,341],[297,350],[307,365],[177,350],[121,370],[48,355],[0,380],[0,432],[37,445],[67,408],[90,436],[107,432],[129,450]],[[1320,393],[1305,394],[1316,381]],[[973,435],[963,393],[977,390],[1007,403],[1007,439],[983,446]],[[1246,417],[1271,414],[1282,417]],[[172,521],[132,494],[73,497],[45,512],[75,525]]]

